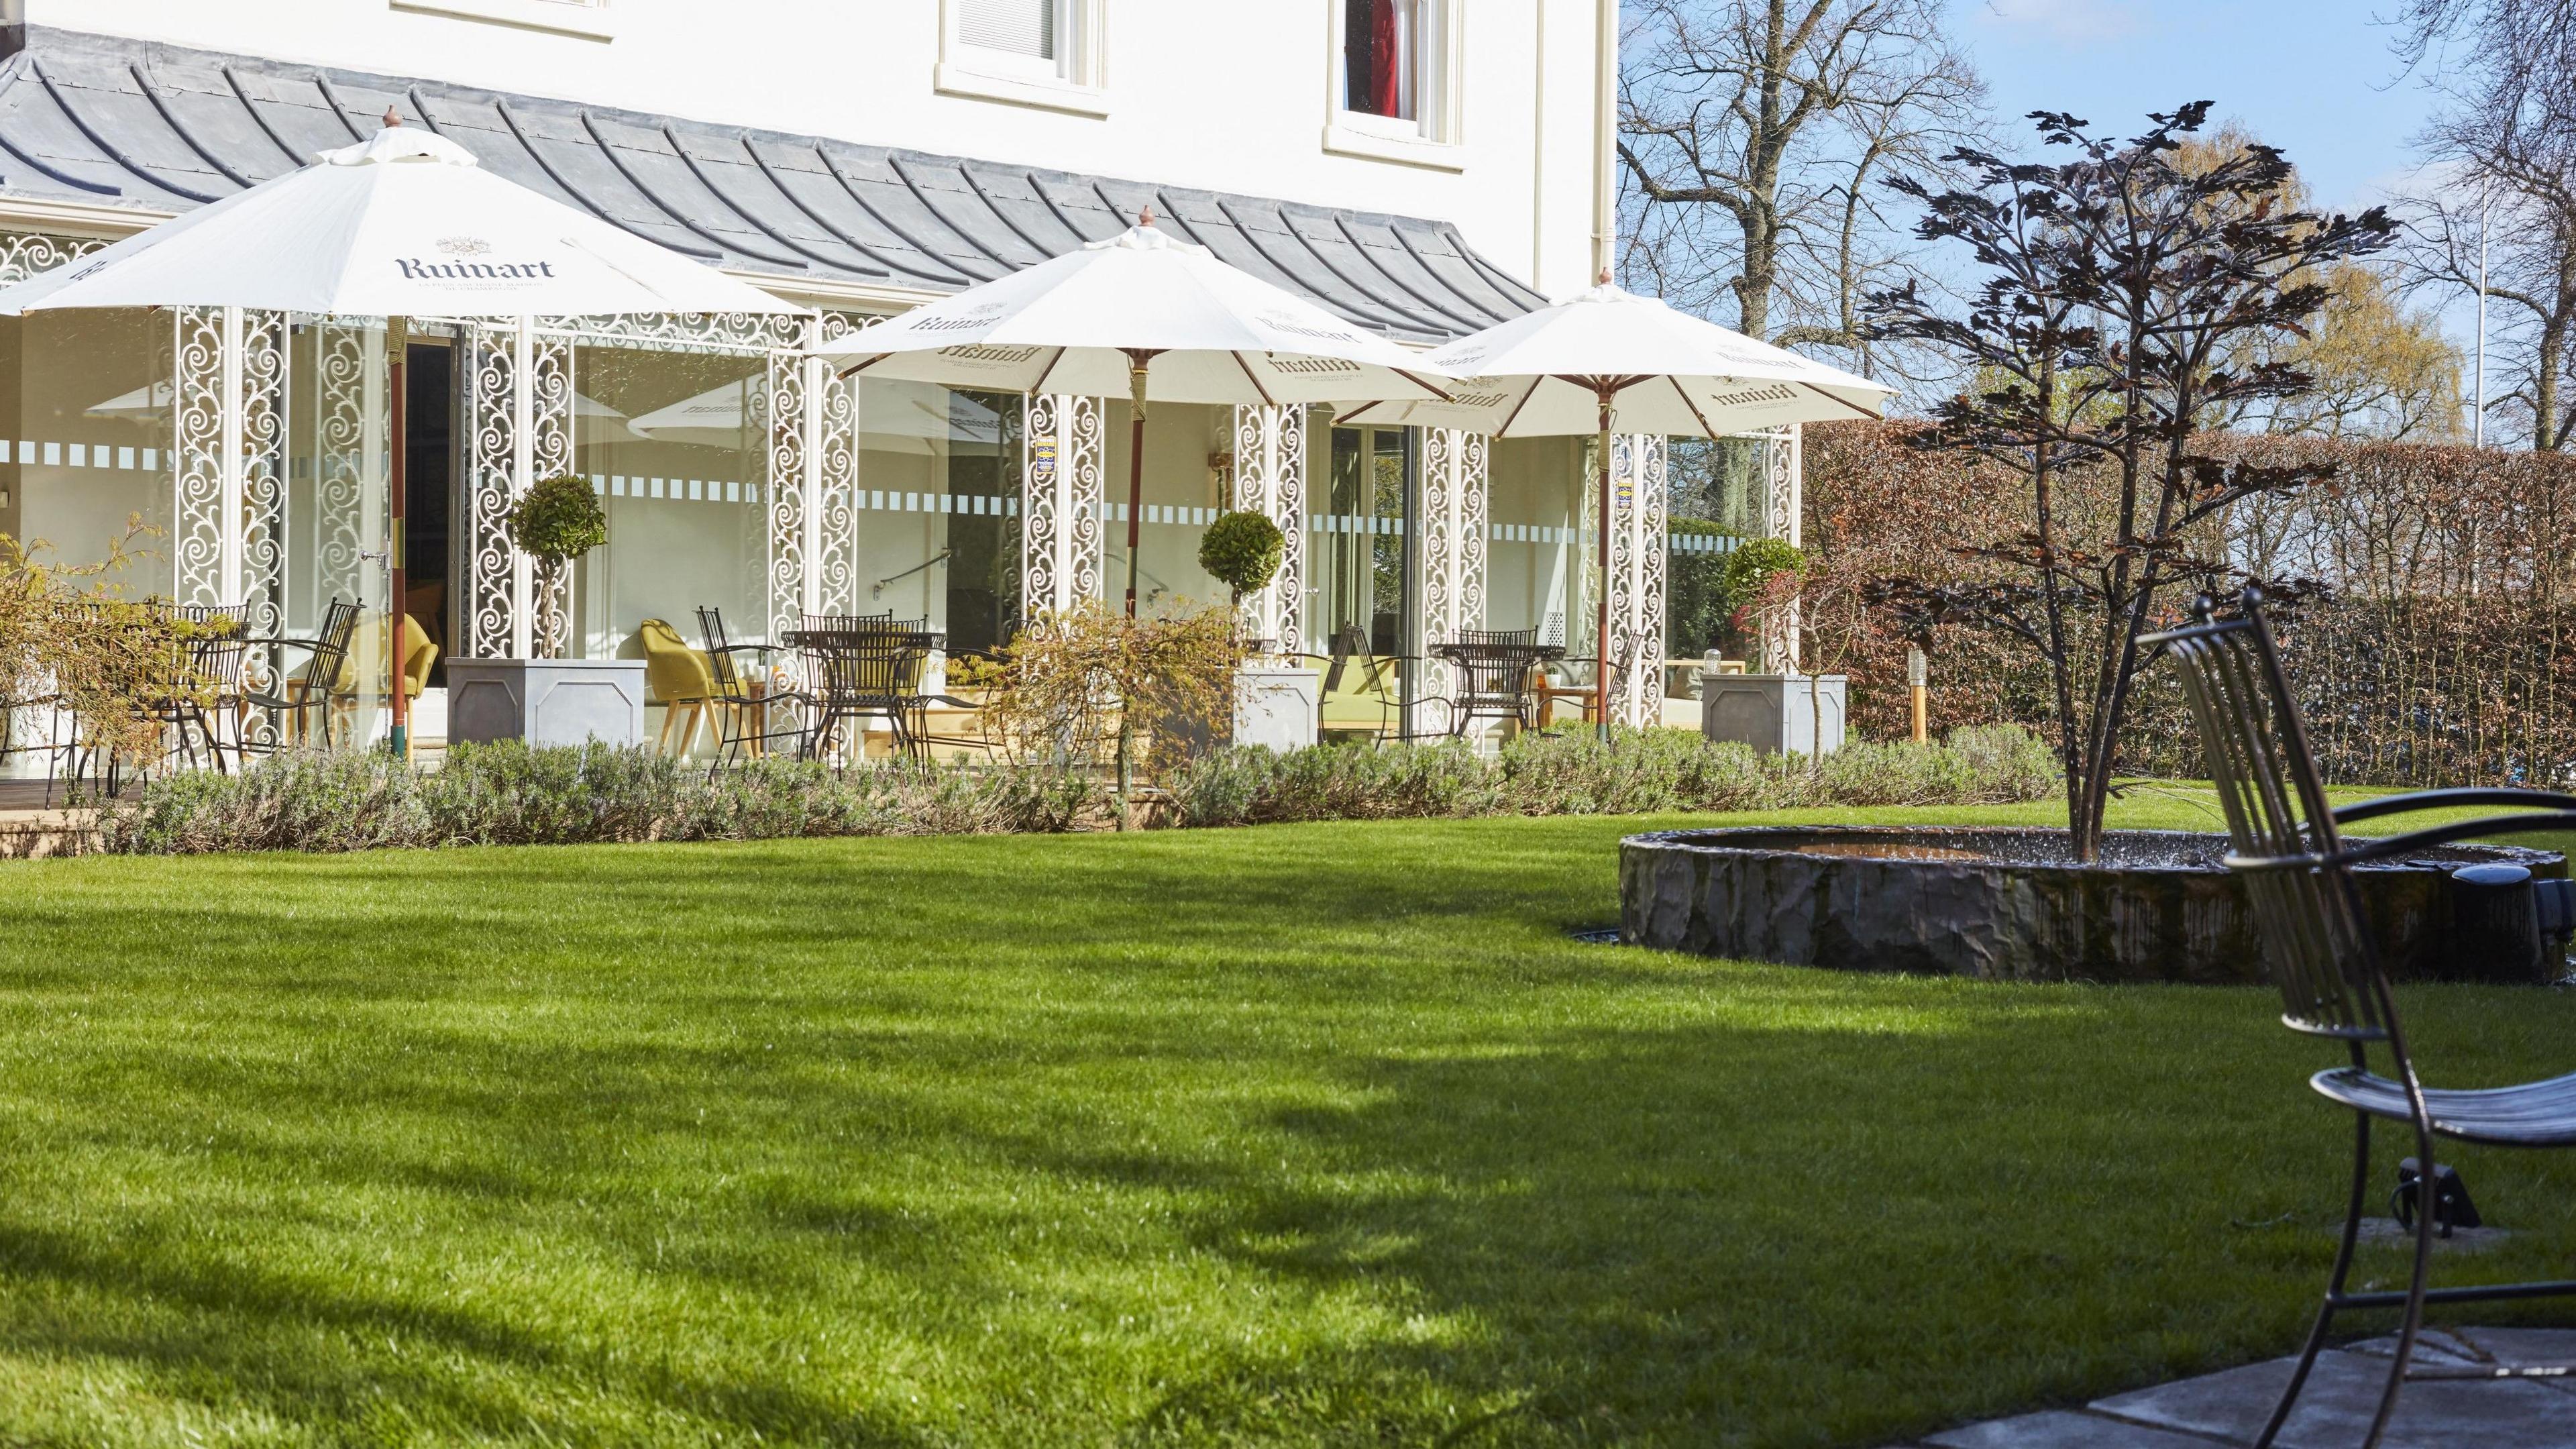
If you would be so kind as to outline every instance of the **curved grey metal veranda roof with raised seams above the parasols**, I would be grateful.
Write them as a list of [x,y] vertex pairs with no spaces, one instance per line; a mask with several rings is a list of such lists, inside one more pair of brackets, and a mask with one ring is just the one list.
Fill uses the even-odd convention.
[[44,26],[0,59],[0,199],[185,211],[371,134],[386,106],[520,186],[786,286],[956,291],[1115,235],[1151,204],[1172,232],[1378,333],[1453,338],[1543,302],[1448,222]]

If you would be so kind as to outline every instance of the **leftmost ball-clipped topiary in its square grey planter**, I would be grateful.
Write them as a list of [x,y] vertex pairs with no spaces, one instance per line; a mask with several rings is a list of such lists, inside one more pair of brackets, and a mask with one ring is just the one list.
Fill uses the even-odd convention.
[[536,559],[528,632],[536,657],[448,660],[448,740],[641,743],[644,660],[562,657],[572,637],[572,562],[608,541],[600,495],[577,474],[538,480],[510,505],[507,529]]

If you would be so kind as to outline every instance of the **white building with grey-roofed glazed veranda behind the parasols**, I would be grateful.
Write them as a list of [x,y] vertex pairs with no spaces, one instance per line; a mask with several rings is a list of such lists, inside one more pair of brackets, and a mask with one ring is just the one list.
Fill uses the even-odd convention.
[[[417,327],[399,606],[456,657],[549,632],[500,518],[551,474],[611,511],[562,621],[574,655],[631,652],[644,619],[696,634],[698,608],[737,639],[891,611],[956,655],[1113,593],[1123,400],[845,382],[801,348],[1144,206],[1422,345],[1579,289],[1597,255],[1592,0],[15,0],[0,21],[5,278],[392,111],[822,309]],[[330,601],[384,619],[386,361],[358,317],[0,320],[0,534],[85,557],[139,516],[134,593],[242,608],[260,637],[309,632]],[[1422,657],[1455,629],[1538,629],[1582,657],[1605,585],[1587,459],[1327,410],[1154,407],[1144,593],[1221,598],[1198,534],[1260,508],[1291,539],[1252,603],[1283,652]],[[1613,449],[1610,655],[1633,722],[1662,696],[1662,459],[1654,438]],[[1430,663],[1406,676],[1406,727],[1445,727],[1440,686]]]

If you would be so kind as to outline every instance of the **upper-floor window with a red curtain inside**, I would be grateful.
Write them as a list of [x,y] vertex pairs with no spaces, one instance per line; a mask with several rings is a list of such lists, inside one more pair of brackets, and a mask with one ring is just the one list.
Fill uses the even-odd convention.
[[1334,0],[1324,150],[1455,168],[1463,0]]

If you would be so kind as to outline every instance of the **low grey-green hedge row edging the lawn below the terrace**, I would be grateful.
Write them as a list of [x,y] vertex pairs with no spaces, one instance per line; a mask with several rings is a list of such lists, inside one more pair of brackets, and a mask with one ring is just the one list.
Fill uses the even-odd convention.
[[[1211,750],[1170,776],[1172,825],[1463,820],[1481,815],[1736,812],[1819,804],[2002,804],[2058,794],[2048,748],[2009,724],[1947,745],[1844,745],[1821,768],[1682,730],[1551,730],[1494,758],[1458,740]],[[376,750],[314,750],[234,773],[149,781],[100,812],[103,848],[371,851],[799,835],[1033,835],[1113,817],[1095,768],[1023,758],[889,761],[835,773],[760,758],[714,779],[641,748],[456,745],[435,771]]]

